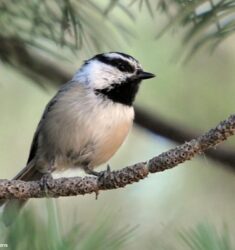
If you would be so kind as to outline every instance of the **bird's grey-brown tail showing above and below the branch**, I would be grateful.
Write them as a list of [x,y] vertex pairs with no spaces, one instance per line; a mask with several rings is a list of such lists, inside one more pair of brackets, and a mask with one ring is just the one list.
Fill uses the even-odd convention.
[[[40,180],[43,174],[40,173],[34,165],[28,164],[25,168],[23,168],[14,178],[13,180],[22,180],[22,181],[35,181]],[[0,200],[0,207],[4,206],[2,219],[6,226],[13,223],[16,219],[20,209],[24,206],[27,200]]]

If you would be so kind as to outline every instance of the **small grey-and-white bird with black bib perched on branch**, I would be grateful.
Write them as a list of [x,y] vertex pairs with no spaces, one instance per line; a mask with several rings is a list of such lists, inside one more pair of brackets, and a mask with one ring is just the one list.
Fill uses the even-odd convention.
[[[84,62],[47,104],[34,134],[26,167],[14,180],[40,180],[55,170],[94,168],[107,162],[130,131],[133,102],[145,72],[132,56],[109,52]],[[1,201],[5,210],[25,201]]]

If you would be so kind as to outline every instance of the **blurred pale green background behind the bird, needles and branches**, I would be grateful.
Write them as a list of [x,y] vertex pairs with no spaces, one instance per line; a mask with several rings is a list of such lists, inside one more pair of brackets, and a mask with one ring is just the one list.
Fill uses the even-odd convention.
[[[23,6],[24,1],[19,2],[22,2]],[[125,5],[125,1],[121,2]],[[76,54],[66,45],[61,47],[53,41],[50,43],[37,38],[38,43],[43,42],[45,46],[67,60],[58,59],[45,50],[33,49],[46,61],[49,60],[71,74],[94,53],[122,51],[131,54],[147,71],[157,75],[153,80],[143,83],[136,105],[151,112],[153,116],[159,115],[173,126],[176,124],[175,126],[182,126],[182,129],[188,128],[195,133],[205,132],[234,113],[235,38],[231,36],[223,41],[213,54],[209,54],[208,49],[204,48],[188,62],[181,63],[180,55],[188,49],[187,46],[182,45],[184,30],[177,30],[174,34],[166,32],[160,39],[156,39],[157,33],[165,27],[167,19],[164,14],[154,9],[155,1],[151,3],[153,17],[145,5],[139,10],[134,3],[128,8],[135,17],[135,21],[119,8],[113,7],[106,17],[94,23],[100,31],[107,25],[109,18],[115,16],[117,20],[122,21],[130,34],[134,34],[134,37],[128,40],[112,27],[111,33],[106,36],[112,38],[112,32],[116,32],[118,43],[115,41],[109,46],[102,45],[102,39],[105,36],[97,37],[102,45],[100,48],[89,49],[84,42]],[[105,9],[109,1],[100,1],[99,4]],[[10,26],[11,23],[9,22],[8,25]],[[1,35],[3,33],[4,31]],[[113,37],[113,39],[116,38]],[[24,166],[39,118],[58,87],[49,85],[45,80],[42,81],[45,81],[43,83],[47,87],[41,87],[38,82],[22,74],[17,66],[12,67],[4,61],[1,62],[0,72],[1,178],[10,179]],[[119,169],[150,159],[175,145],[161,135],[155,135],[135,126],[127,141],[109,163],[112,169]],[[225,146],[235,153],[234,138],[226,142]],[[74,176],[83,175],[83,173],[79,170],[67,171],[55,176],[61,175]],[[199,245],[193,248],[180,236],[180,232],[198,230],[204,236],[209,231],[208,235],[212,234],[211,237],[214,237],[212,241],[215,241],[216,237],[223,237],[226,231],[225,234],[230,237],[228,241],[231,241],[231,248],[218,249],[235,249],[234,193],[235,166],[229,168],[202,155],[172,170],[151,175],[140,183],[129,185],[124,189],[101,192],[98,200],[95,200],[95,195],[59,198],[50,203],[48,208],[46,199],[31,199],[25,207],[26,215],[20,218],[28,224],[24,226],[22,222],[17,225],[21,226],[18,231],[15,229],[10,232],[12,234],[15,232],[12,237],[16,239],[22,230],[27,234],[35,233],[36,236],[29,238],[23,246],[22,240],[18,239],[18,243],[13,247],[11,242],[6,242],[6,239],[13,238],[4,238],[6,235],[9,237],[9,230],[13,229],[2,226],[1,231],[4,234],[0,243],[8,243],[9,248],[12,249],[114,249],[112,246],[102,244],[98,248],[98,243],[95,241],[99,242],[110,232],[119,235],[120,231],[134,229],[133,232],[126,233],[127,239],[123,239],[123,244],[117,249],[217,249],[215,246],[209,248],[210,246],[206,244],[203,245],[205,248],[200,248]],[[30,213],[33,213],[31,217],[34,219],[31,217],[27,219],[27,214]],[[44,225],[45,228],[43,228],[40,224],[48,223],[47,218],[48,215],[52,216],[51,214],[55,216],[52,220],[53,226]],[[105,224],[104,221],[109,221],[105,229],[107,231],[99,235],[101,230],[99,229],[94,233],[95,229],[99,228],[99,224]],[[36,227],[41,226],[41,231],[32,230],[30,223],[36,224]],[[47,234],[43,238],[40,233],[45,230],[56,231],[59,227],[57,237],[62,238],[62,235],[66,237],[71,229],[73,231],[75,225],[81,227],[78,232],[74,229],[74,232],[77,232],[78,242],[79,239],[83,241],[87,239],[90,245],[83,242],[83,248],[79,243],[71,245],[71,248],[68,245],[61,245],[59,248],[49,244],[47,239],[49,237],[54,239],[53,236]],[[214,236],[213,230],[217,231],[218,235],[215,233]],[[197,233],[196,235],[195,238],[200,241]],[[184,236],[190,241],[191,236],[189,237],[188,233]],[[30,239],[33,240],[30,242]],[[46,239],[49,245],[44,242],[45,246],[40,248],[39,242],[43,239]],[[91,244],[92,239],[94,245]],[[207,238],[207,243],[209,240],[210,236]],[[30,248],[32,242],[36,242],[34,248]],[[219,243],[216,247],[218,245]]]

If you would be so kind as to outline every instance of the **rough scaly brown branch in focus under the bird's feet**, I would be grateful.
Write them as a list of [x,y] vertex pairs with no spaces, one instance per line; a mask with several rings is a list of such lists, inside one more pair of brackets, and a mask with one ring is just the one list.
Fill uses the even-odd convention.
[[[148,176],[170,169],[190,160],[205,150],[215,147],[235,133],[235,114],[220,122],[204,135],[160,154],[148,162],[137,163],[118,171],[104,172],[100,178],[93,176],[48,179],[47,189],[42,181],[0,180],[0,199],[27,199],[84,195],[100,190],[116,189]],[[45,181],[45,180],[44,180]]]

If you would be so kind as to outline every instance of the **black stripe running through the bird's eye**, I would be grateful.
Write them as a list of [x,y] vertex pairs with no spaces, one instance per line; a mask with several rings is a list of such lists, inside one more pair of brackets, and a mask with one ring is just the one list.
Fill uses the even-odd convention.
[[133,73],[135,71],[134,67],[129,62],[121,58],[110,58],[101,54],[97,55],[96,59],[100,62],[116,67],[122,72]]

